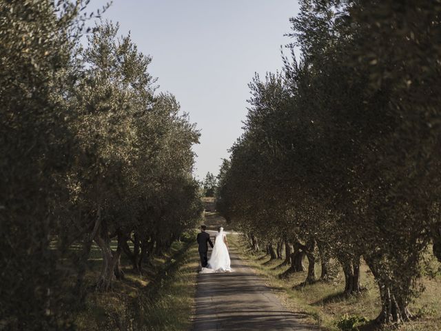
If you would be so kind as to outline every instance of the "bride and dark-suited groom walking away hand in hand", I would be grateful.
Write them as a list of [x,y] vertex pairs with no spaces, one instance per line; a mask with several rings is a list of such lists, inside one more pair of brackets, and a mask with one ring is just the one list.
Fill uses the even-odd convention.
[[[207,274],[211,272],[231,272],[231,261],[228,253],[227,236],[223,232],[223,228],[218,228],[216,237],[214,239],[214,245],[209,237],[209,233],[206,232],[207,227],[201,225],[201,232],[198,233],[197,241],[199,245],[199,255],[201,255],[201,273]],[[207,257],[208,244],[213,248],[212,255]]]

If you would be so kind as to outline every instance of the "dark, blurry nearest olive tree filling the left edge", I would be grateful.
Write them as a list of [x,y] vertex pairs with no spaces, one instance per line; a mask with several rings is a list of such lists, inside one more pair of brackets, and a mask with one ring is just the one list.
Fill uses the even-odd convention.
[[[0,323],[8,330],[67,330],[63,232],[72,163],[70,105],[61,98],[85,1],[0,1]],[[67,37],[67,36],[70,36]],[[61,217],[61,218],[60,218]]]

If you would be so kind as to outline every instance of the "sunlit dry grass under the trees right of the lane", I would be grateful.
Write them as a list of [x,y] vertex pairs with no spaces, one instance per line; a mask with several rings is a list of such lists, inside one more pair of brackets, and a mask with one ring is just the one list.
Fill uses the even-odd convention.
[[[336,322],[345,314],[374,319],[380,312],[378,287],[366,265],[362,265],[361,281],[366,291],[360,295],[345,297],[342,295],[345,285],[342,272],[334,281],[298,287],[296,285],[305,281],[306,272],[292,274],[289,279],[279,279],[278,275],[288,268],[280,266],[283,261],[269,261],[269,257],[264,254],[252,254],[237,236],[232,236],[232,243],[240,248],[242,258],[247,260],[258,274],[266,277],[267,284],[278,289],[281,299],[289,309],[307,313],[309,322],[320,325],[323,330],[338,330]],[[429,263],[438,268],[438,261],[434,258],[430,257]],[[307,261],[305,261],[305,266],[307,266]],[[320,265],[316,265],[316,274],[320,274]],[[415,302],[411,303],[411,311],[418,315],[418,318],[399,328],[382,330],[441,330],[441,277],[440,275],[434,279],[423,277],[421,284],[426,290]],[[360,330],[376,330],[376,325],[368,323]]]

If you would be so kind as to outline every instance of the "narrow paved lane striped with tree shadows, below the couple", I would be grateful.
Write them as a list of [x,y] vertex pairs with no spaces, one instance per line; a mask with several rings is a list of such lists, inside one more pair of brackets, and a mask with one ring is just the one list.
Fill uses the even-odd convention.
[[288,312],[263,279],[230,250],[234,272],[199,274],[194,331],[315,330]]

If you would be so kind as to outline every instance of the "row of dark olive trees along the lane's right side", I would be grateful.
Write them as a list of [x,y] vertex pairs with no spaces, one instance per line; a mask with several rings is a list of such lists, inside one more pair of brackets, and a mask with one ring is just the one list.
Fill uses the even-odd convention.
[[305,283],[316,262],[329,279],[338,261],[358,292],[363,258],[380,322],[411,318],[431,243],[441,261],[440,15],[438,1],[300,1],[301,61],[250,84],[218,178],[217,209],[254,249],[276,258],[285,243],[287,273],[306,256]]

